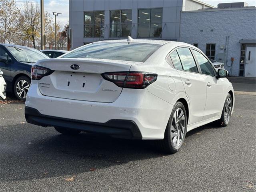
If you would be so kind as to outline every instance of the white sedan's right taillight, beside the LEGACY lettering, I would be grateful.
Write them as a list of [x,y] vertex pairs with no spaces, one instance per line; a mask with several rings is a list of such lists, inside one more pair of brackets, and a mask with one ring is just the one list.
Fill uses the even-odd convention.
[[147,72],[107,72],[101,75],[118,87],[134,89],[146,88],[157,79],[157,74]]

